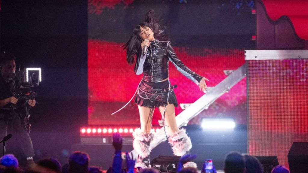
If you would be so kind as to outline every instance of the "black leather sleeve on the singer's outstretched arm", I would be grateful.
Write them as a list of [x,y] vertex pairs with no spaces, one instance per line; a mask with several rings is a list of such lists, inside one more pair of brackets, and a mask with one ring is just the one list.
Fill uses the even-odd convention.
[[169,60],[176,67],[176,69],[180,71],[180,73],[182,73],[188,79],[192,80],[195,84],[199,85],[199,82],[203,77],[193,72],[183,64],[183,62],[176,56],[176,53],[174,52],[172,46],[170,45],[170,42],[167,43],[167,52]]

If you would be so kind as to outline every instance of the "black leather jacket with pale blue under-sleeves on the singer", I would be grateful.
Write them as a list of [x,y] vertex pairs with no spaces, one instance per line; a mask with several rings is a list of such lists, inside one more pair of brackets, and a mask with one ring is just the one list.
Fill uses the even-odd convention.
[[134,72],[137,75],[143,73],[143,80],[147,82],[160,82],[168,78],[169,60],[176,66],[177,70],[197,85],[203,78],[181,62],[168,41],[154,40],[148,47],[146,55],[142,56],[141,50],[139,52]]

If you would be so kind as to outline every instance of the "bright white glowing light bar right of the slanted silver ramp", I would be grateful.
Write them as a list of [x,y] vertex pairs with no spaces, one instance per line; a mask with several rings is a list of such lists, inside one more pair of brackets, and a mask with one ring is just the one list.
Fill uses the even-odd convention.
[[235,122],[233,119],[202,119],[201,127],[206,130],[233,130]]

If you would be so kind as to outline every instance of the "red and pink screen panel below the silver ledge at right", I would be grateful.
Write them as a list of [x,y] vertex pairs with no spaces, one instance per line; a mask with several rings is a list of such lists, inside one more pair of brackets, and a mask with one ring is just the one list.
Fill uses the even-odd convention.
[[249,154],[288,165],[293,142],[308,142],[308,60],[248,61]]

